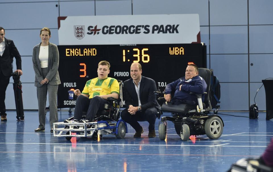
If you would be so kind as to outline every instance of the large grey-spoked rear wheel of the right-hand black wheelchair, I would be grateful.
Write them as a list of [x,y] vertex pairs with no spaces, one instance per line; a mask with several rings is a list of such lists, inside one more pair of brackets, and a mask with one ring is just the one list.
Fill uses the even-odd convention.
[[223,123],[218,116],[206,120],[205,133],[210,139],[218,139],[223,133]]

